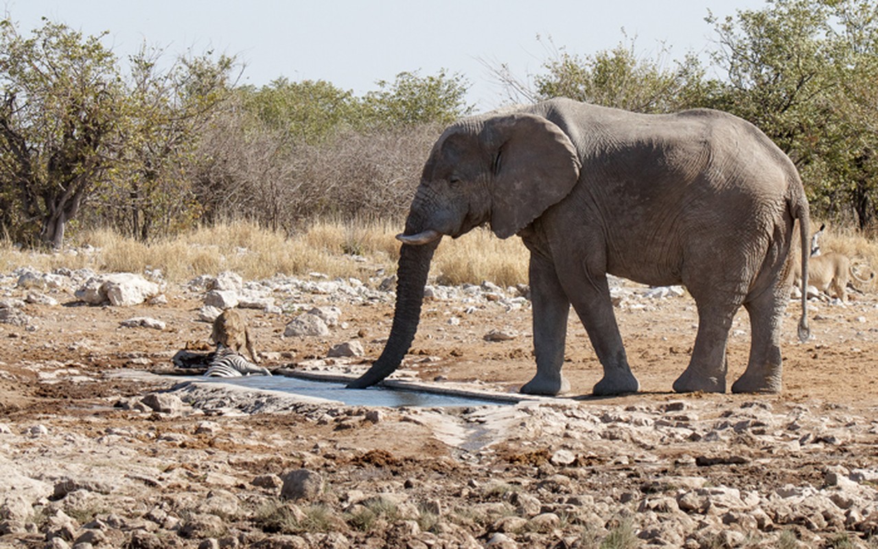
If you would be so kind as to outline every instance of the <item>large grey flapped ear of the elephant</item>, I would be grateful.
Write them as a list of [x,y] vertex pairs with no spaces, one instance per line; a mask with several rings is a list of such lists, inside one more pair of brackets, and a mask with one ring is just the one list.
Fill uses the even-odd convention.
[[567,134],[542,116],[496,117],[485,131],[494,147],[491,229],[507,238],[567,196],[579,179],[579,157]]

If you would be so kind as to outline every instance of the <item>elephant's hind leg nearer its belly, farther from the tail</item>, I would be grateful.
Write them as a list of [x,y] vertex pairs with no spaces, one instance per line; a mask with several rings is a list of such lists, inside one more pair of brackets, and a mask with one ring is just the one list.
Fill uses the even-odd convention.
[[725,375],[728,372],[726,343],[729,340],[731,321],[740,307],[739,300],[714,299],[699,301],[698,334],[692,350],[692,358],[686,370],[673,382],[677,393],[725,393]]

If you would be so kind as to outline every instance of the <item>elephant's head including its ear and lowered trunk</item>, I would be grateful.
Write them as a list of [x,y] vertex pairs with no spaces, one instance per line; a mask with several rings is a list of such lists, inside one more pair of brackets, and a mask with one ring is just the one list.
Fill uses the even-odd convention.
[[385,349],[349,387],[367,387],[399,366],[414,340],[430,260],[443,235],[490,223],[515,235],[564,199],[579,179],[579,156],[556,124],[512,113],[464,119],[436,141],[415,192],[397,271],[396,308]]

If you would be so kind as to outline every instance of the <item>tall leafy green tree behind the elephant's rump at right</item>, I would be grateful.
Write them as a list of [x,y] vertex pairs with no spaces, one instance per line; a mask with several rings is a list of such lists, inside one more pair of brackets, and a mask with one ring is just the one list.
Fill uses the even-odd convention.
[[768,0],[716,25],[727,78],[714,106],[759,126],[802,172],[821,213],[860,228],[878,198],[878,7],[869,0]]

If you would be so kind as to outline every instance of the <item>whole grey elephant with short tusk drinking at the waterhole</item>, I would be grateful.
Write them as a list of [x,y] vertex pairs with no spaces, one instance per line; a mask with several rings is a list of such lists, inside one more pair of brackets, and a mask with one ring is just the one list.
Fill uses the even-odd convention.
[[[788,156],[756,126],[694,109],[641,114],[555,98],[461,119],[435,142],[397,235],[390,336],[349,387],[390,375],[414,340],[424,285],[443,235],[488,225],[529,249],[536,375],[523,394],[570,391],[561,373],[572,306],[603,377],[594,395],[628,394],[631,372],[607,274],[685,285],[698,329],[673,390],[726,390],[726,344],[742,305],[752,337],[735,393],[781,391],[781,319],[789,300],[795,225],[808,249],[809,206]],[[800,254],[802,288],[808,254]],[[804,292],[802,292],[804,293]],[[808,339],[802,298],[798,336]]]

